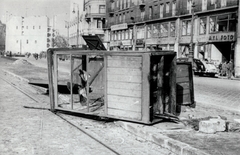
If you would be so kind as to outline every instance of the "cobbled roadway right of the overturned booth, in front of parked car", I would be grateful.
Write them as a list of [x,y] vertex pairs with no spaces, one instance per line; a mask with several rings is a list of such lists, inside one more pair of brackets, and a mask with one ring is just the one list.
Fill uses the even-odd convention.
[[221,78],[194,78],[195,100],[240,112],[240,81]]

